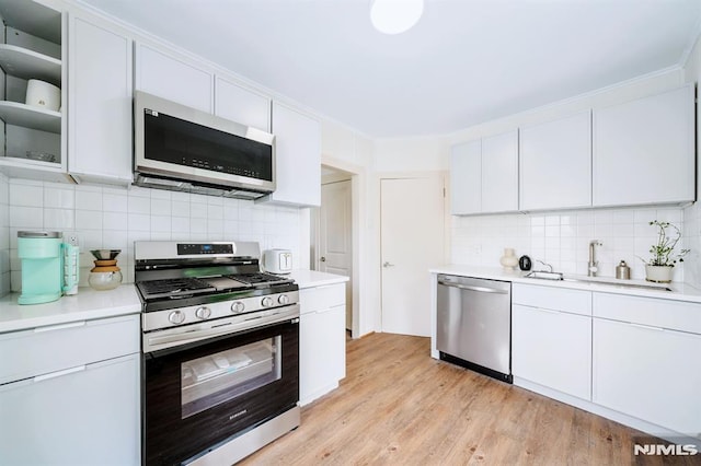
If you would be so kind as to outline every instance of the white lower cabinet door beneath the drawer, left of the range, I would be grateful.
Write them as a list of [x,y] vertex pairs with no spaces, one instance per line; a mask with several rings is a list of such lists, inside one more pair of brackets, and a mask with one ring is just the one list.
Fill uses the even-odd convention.
[[137,465],[139,354],[0,387],[0,463]]

